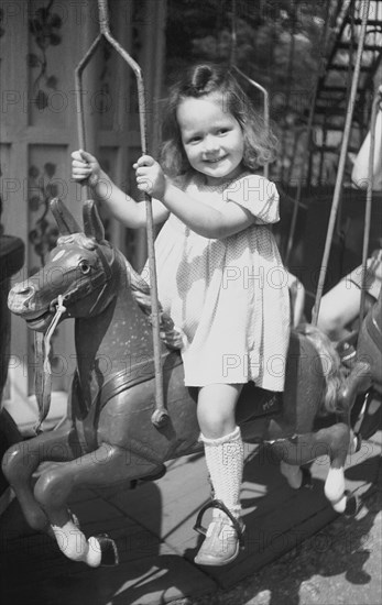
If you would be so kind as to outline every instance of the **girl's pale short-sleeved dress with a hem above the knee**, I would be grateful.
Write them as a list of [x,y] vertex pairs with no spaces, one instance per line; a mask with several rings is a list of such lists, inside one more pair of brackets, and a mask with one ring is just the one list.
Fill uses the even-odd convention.
[[245,175],[220,187],[196,176],[182,188],[214,208],[234,201],[255,217],[253,226],[216,240],[171,215],[156,239],[159,298],[184,334],[185,384],[253,381],[283,391],[288,276],[266,227],[279,221],[276,187]]

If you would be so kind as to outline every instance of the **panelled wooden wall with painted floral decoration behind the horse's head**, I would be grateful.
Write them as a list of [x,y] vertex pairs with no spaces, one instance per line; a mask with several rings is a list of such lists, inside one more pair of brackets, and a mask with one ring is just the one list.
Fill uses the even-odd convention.
[[[112,34],[139,62],[155,57],[155,65],[162,65],[164,8],[164,0],[109,0]],[[160,18],[157,32],[152,22],[150,28],[145,25],[149,16]],[[3,176],[0,193],[4,231],[28,244],[22,276],[41,266],[45,260],[41,250],[52,243],[51,218],[44,237],[34,233],[30,242],[30,233],[41,228],[39,221],[50,197],[58,194],[81,223],[81,202],[86,195],[70,179],[70,152],[78,148],[74,74],[98,32],[97,2],[31,0],[3,3],[0,30],[0,163]],[[153,80],[149,88],[154,91],[160,86],[161,69],[153,69],[149,77]],[[131,166],[140,147],[134,76],[116,53],[103,45],[84,74],[84,98],[88,150],[100,151],[112,165],[116,183],[129,189],[130,175],[125,166]],[[129,255],[140,254],[143,260],[144,234],[135,234],[133,240],[129,232],[129,245],[125,246],[128,232],[120,224],[110,222],[109,233],[117,245],[129,250]],[[67,371],[55,380],[54,388],[58,392],[66,391],[74,370],[72,330],[70,322],[59,327],[55,343],[57,355],[67,362]],[[33,403],[29,402],[33,394],[29,337],[24,322],[13,317],[10,396],[25,406]]]

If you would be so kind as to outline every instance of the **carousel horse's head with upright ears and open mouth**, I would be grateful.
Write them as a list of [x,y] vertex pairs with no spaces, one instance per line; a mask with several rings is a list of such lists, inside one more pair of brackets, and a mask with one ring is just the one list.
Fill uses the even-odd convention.
[[58,300],[65,307],[62,320],[91,317],[116,296],[116,251],[105,240],[95,202],[84,204],[84,231],[58,198],[51,201],[51,209],[59,229],[57,245],[47,264],[14,285],[8,299],[10,310],[40,332],[52,323]]

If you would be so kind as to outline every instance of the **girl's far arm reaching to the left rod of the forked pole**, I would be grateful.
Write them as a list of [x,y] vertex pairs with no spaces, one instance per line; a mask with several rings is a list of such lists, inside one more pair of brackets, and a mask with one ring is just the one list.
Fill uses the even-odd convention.
[[[137,202],[128,196],[101,169],[96,157],[79,150],[72,154],[72,176],[79,183],[88,182],[95,196],[105,204],[112,216],[131,229],[145,227],[146,211],[144,202]],[[157,199],[152,200],[154,223],[163,222],[168,210]]]

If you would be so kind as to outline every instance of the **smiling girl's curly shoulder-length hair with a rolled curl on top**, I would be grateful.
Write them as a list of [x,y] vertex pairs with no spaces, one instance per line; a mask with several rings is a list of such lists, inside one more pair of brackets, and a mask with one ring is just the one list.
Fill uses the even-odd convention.
[[277,150],[275,135],[265,129],[263,119],[232,74],[221,65],[206,63],[189,67],[170,89],[162,121],[161,165],[164,172],[172,177],[189,172],[176,119],[177,108],[184,99],[209,95],[220,95],[225,111],[240,124],[244,141],[243,166],[254,170],[273,161]]

